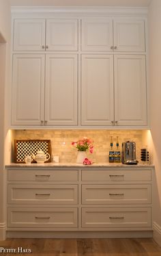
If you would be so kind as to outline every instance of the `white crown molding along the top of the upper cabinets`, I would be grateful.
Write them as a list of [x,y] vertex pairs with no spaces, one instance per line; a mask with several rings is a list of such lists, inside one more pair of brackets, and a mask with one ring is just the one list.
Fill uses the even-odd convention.
[[129,8],[129,7],[107,7],[107,6],[12,6],[12,16],[56,16],[56,15],[134,15],[134,16],[147,16],[148,8]]

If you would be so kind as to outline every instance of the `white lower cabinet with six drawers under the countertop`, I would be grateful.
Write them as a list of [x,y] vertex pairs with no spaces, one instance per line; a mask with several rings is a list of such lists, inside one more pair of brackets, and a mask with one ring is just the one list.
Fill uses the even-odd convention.
[[151,231],[151,171],[8,168],[8,231]]

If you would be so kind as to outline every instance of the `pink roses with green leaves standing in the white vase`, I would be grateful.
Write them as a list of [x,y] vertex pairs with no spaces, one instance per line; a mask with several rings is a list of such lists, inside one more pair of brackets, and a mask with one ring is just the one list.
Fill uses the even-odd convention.
[[90,153],[93,153],[93,140],[84,137],[76,142],[72,142],[72,146],[76,146],[78,151],[87,151],[89,149]]

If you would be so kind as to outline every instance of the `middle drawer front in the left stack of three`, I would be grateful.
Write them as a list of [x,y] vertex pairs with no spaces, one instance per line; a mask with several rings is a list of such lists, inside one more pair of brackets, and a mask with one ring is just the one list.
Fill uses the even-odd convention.
[[8,203],[76,204],[78,185],[8,185]]

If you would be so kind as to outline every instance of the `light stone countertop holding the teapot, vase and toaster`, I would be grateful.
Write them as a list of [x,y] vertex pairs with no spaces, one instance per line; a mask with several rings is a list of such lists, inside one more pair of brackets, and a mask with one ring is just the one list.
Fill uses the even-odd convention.
[[76,164],[76,163],[68,163],[68,162],[63,162],[63,163],[44,163],[44,164],[15,164],[15,163],[10,163],[5,165],[5,168],[55,168],[55,167],[61,167],[61,168],[69,168],[69,167],[74,167],[74,168],[89,168],[89,167],[118,167],[118,168],[147,168],[147,167],[154,167],[153,164],[134,164],[134,165],[128,165],[128,164],[121,164],[121,163],[108,163],[108,162],[99,162],[99,163],[93,163],[91,165],[84,165],[84,164]]

